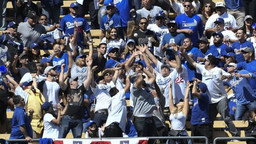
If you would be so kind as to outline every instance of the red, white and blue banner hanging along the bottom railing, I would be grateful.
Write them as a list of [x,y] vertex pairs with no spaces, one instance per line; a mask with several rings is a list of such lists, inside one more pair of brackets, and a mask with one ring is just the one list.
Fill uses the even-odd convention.
[[148,138],[126,139],[55,139],[54,144],[147,144]]

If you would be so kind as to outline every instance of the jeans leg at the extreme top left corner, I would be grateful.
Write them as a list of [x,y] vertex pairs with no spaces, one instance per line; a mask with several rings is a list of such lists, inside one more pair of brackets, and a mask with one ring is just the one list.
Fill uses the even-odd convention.
[[6,30],[6,6],[8,0],[0,0],[0,30]]

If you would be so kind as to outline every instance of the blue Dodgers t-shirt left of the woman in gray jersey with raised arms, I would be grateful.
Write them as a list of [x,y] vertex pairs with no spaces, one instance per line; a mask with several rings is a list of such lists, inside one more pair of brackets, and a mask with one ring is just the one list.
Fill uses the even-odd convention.
[[[48,57],[50,58],[50,56]],[[60,53],[60,58],[57,57],[53,57],[52,59],[52,65],[55,66],[57,65],[57,72],[60,73],[61,71],[61,65],[65,64],[65,69],[64,69],[64,73],[66,73],[68,71],[68,53]]]

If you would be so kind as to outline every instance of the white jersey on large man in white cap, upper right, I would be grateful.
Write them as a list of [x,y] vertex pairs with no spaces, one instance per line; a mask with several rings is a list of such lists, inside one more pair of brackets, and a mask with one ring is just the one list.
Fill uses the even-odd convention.
[[208,28],[215,28],[215,21],[217,18],[223,18],[225,25],[224,25],[224,30],[231,30],[233,28],[239,28],[236,22],[236,19],[234,16],[224,12],[223,15],[219,14],[213,14],[212,16],[209,17],[209,19],[206,22],[204,30],[207,30]]

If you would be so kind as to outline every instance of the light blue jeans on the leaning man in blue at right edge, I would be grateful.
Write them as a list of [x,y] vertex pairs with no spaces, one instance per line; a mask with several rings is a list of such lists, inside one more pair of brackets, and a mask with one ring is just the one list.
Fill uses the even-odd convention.
[[236,111],[235,111],[235,120],[236,121],[241,121],[242,116],[244,115],[246,109],[248,108],[249,111],[253,110],[254,107],[256,106],[256,100],[249,102],[246,105],[242,105],[241,103],[236,103]]

